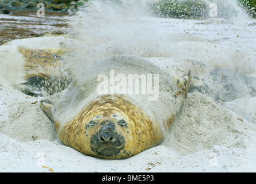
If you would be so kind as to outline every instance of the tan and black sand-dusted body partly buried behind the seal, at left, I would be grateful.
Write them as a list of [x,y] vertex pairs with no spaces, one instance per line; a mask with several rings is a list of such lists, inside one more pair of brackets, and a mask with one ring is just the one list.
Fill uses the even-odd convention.
[[[21,47],[24,57],[22,92],[32,96],[52,95],[64,90],[71,82],[63,72],[61,57],[54,53]],[[60,50],[59,52],[62,52]]]

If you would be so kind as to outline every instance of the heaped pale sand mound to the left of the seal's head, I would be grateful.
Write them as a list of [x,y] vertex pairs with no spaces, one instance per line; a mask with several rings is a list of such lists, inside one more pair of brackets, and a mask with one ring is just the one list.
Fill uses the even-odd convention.
[[19,141],[55,140],[54,123],[40,109],[40,98],[16,90],[0,78],[0,132]]

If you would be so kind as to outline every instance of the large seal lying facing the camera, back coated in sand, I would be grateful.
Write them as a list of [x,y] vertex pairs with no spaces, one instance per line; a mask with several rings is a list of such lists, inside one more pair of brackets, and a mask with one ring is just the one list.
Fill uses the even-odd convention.
[[[189,73],[172,80],[154,64],[133,56],[109,57],[95,65],[100,71],[74,79],[55,105],[40,103],[55,122],[60,140],[102,159],[128,158],[158,145],[186,98]],[[113,69],[121,74],[159,74],[159,99],[148,101],[143,94],[97,94],[97,74]]]

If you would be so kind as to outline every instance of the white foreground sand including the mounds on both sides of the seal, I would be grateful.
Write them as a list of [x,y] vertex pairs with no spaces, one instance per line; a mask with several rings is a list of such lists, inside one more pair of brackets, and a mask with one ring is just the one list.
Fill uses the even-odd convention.
[[1,172],[255,172],[255,124],[200,93],[189,94],[166,140],[124,160],[102,160],[66,147],[39,98],[0,78]]

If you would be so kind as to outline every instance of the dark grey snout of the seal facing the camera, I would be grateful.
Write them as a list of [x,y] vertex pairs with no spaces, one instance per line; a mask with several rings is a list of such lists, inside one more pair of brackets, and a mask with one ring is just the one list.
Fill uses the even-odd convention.
[[124,147],[124,137],[116,132],[114,122],[102,122],[100,130],[91,137],[91,150],[101,156],[115,156]]

